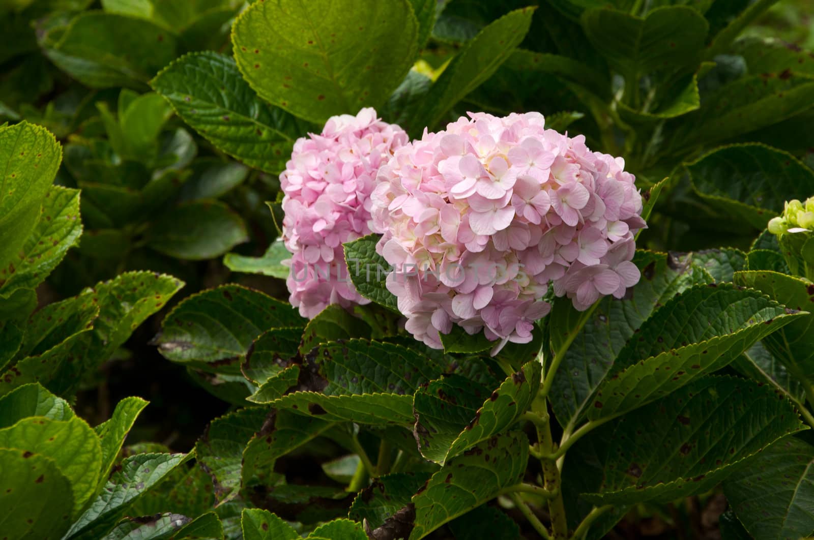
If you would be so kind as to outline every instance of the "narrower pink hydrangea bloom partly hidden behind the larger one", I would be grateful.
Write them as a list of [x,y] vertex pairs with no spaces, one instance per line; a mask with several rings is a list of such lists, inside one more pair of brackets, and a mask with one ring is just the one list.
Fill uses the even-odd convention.
[[348,278],[342,244],[370,234],[376,173],[408,141],[403,129],[365,108],[332,116],[322,133],[295,142],[280,184],[282,237],[291,252],[287,285],[300,315],[313,318],[329,303],[370,302]]

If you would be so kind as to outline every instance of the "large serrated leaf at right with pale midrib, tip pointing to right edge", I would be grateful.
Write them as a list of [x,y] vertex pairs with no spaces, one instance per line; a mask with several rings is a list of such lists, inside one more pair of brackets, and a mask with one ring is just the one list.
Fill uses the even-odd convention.
[[689,289],[656,311],[624,346],[588,417],[619,416],[661,398],[803,316],[755,290],[728,284]]

